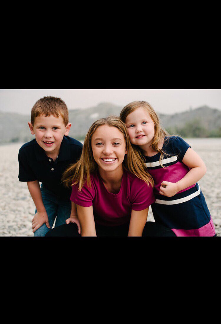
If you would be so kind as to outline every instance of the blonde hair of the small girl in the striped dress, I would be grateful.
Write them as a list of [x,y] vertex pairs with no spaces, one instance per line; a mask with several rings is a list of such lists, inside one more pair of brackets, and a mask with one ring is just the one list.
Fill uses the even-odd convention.
[[[153,150],[160,152],[160,164],[162,166],[161,161],[163,160],[163,155],[165,152],[162,149],[158,148],[158,143],[161,140],[165,139],[165,136],[169,136],[169,134],[161,127],[159,117],[157,116],[156,111],[151,107],[151,105],[147,101],[133,101],[126,105],[120,113],[121,120],[125,123],[127,116],[133,112],[135,109],[142,107],[148,111],[152,121],[154,122],[154,138],[151,143],[151,147]],[[136,149],[140,150],[137,145],[134,145]],[[162,166],[163,167],[163,166]]]

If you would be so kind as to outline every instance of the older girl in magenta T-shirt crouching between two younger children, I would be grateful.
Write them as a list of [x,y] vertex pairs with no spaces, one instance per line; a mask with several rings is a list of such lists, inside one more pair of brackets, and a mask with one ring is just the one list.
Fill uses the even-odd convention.
[[155,201],[153,179],[119,117],[92,124],[80,160],[63,179],[72,185],[69,224],[46,236],[175,236],[165,226],[146,223],[149,205]]

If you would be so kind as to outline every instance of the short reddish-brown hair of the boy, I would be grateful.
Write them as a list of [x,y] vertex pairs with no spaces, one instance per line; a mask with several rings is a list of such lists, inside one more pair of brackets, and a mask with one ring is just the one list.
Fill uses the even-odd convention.
[[63,118],[64,125],[68,123],[68,109],[65,102],[61,98],[56,97],[44,97],[39,99],[31,110],[31,124],[34,125],[35,118],[40,115],[59,117]]

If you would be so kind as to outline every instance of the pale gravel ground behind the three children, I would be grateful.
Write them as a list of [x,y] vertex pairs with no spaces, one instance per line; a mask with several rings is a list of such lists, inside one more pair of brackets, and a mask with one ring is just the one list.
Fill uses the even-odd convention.
[[[186,139],[204,160],[207,172],[199,181],[213,218],[216,235],[221,236],[221,139]],[[18,150],[21,143],[0,146],[0,236],[34,236],[31,220],[35,205],[26,182],[18,181]],[[149,211],[148,221],[154,221]]]

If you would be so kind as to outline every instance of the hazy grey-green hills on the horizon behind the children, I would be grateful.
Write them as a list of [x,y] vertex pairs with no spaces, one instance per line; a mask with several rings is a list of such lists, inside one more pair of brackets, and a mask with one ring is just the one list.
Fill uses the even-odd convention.
[[[111,103],[100,103],[96,107],[69,110],[72,123],[69,135],[84,139],[90,125],[101,117],[118,115],[122,107]],[[208,106],[168,115],[159,114],[161,124],[170,133],[184,137],[221,137],[221,110]],[[0,111],[0,143],[28,142],[33,139],[28,121],[30,115],[5,113]]]

